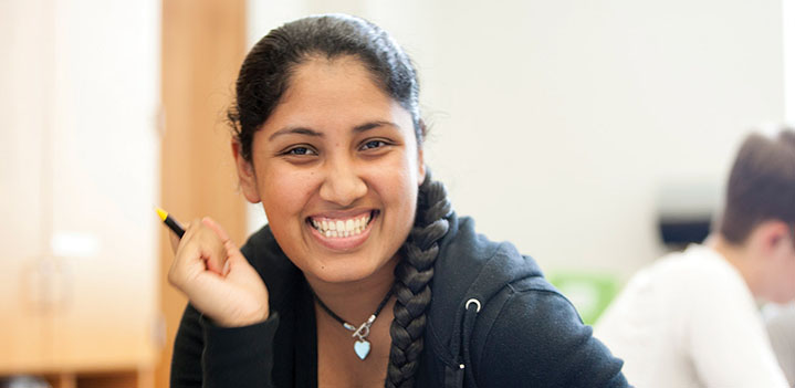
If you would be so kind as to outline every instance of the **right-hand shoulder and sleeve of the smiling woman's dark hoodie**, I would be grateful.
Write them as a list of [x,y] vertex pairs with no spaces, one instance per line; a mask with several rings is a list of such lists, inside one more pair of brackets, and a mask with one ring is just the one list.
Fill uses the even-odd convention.
[[[471,219],[451,221],[435,265],[426,333],[441,365],[454,373],[466,364],[479,381],[498,382],[490,386],[626,386],[621,361],[592,337],[532,258],[478,234]],[[576,370],[593,375],[580,381],[569,375]]]

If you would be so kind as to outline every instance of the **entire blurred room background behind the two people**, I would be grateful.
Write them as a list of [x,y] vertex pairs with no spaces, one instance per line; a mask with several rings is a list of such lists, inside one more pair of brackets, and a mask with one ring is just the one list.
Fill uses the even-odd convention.
[[226,109],[247,50],[321,12],[401,43],[454,209],[586,322],[703,238],[751,128],[795,118],[795,0],[0,0],[0,379],[167,387],[186,300],[154,207],[239,243],[266,222]]

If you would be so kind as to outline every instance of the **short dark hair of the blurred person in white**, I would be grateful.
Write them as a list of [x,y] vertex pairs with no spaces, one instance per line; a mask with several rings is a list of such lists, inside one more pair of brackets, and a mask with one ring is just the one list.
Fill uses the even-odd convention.
[[795,228],[795,132],[777,137],[752,134],[734,159],[726,185],[721,235],[743,244],[761,222],[780,220]]

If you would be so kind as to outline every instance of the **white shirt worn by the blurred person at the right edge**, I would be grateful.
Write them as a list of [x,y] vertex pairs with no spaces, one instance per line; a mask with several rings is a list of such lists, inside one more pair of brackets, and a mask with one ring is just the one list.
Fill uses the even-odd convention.
[[747,285],[703,245],[638,272],[596,323],[595,336],[640,388],[787,387]]

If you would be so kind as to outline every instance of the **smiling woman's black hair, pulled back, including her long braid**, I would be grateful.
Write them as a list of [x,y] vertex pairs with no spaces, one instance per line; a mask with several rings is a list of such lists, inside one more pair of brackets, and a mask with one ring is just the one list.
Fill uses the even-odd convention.
[[[411,114],[421,147],[425,125],[418,107],[419,85],[408,55],[377,25],[349,15],[329,14],[300,19],[272,30],[245,56],[236,86],[237,102],[228,112],[245,160],[251,161],[254,134],[280,104],[296,67],[316,57],[343,56],[362,61],[376,85]],[[448,231],[450,213],[444,187],[431,180],[428,172],[419,188],[415,227],[401,247],[402,260],[395,269],[397,301],[389,328],[387,387],[414,386],[423,348],[438,241]]]

